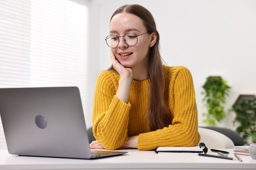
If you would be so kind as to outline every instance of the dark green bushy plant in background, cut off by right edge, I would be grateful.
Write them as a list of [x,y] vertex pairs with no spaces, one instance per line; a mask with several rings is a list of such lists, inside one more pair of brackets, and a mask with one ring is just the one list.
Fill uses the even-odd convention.
[[248,135],[256,132],[256,97],[253,99],[242,99],[233,105],[232,110],[236,112],[234,123],[238,123],[236,131],[248,144]]

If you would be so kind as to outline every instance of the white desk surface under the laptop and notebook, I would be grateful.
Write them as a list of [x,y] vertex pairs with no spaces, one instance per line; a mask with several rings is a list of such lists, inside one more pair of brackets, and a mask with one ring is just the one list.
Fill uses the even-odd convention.
[[[233,153],[233,149],[223,150]],[[240,156],[243,160],[240,162],[198,156],[195,153],[156,154],[154,151],[125,151],[128,151],[128,154],[123,156],[77,160],[16,156],[9,154],[7,150],[0,150],[0,169],[256,169],[256,160],[250,156]]]

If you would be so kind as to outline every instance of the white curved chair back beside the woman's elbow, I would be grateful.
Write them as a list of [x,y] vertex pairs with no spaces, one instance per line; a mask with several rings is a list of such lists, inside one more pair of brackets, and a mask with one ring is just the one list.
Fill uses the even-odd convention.
[[211,148],[234,148],[234,143],[230,138],[226,137],[218,131],[198,127],[201,136],[200,143],[205,143],[208,149]]

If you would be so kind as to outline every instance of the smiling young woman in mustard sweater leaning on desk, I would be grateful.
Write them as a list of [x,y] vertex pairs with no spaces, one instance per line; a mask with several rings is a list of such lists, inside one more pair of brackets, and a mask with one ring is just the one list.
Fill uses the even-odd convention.
[[186,67],[163,65],[152,14],[123,5],[110,19],[112,67],[98,76],[91,148],[196,146],[200,142],[194,84]]

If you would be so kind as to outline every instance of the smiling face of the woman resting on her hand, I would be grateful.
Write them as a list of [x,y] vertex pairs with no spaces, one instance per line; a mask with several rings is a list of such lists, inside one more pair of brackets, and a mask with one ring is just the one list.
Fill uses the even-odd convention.
[[[126,33],[140,35],[146,33],[146,27],[138,16],[128,13],[116,14],[110,22],[110,35],[123,36]],[[124,67],[139,67],[147,69],[148,51],[156,43],[156,34],[140,35],[135,46],[125,43],[123,37],[119,37],[119,44],[116,48],[111,48],[117,60]]]

